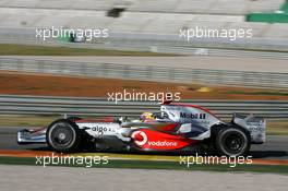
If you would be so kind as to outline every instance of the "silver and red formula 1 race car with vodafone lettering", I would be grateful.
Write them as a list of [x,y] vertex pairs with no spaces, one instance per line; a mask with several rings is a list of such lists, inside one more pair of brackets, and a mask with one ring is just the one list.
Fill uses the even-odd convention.
[[70,117],[39,130],[21,130],[19,144],[47,143],[53,151],[70,153],[94,145],[98,152],[214,152],[247,155],[251,144],[265,142],[266,121],[235,114],[226,123],[208,109],[165,103],[159,114],[144,112],[140,119]]

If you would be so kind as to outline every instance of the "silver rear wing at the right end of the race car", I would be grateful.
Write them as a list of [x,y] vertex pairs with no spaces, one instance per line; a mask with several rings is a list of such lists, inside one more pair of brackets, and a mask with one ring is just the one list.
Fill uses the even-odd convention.
[[251,143],[261,144],[266,141],[266,120],[247,114],[233,114],[232,123],[236,123],[251,134]]

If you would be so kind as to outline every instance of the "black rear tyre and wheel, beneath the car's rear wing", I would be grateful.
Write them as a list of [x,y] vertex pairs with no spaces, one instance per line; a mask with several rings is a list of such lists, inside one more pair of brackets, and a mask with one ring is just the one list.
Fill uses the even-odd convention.
[[223,128],[215,139],[215,147],[220,156],[244,156],[250,146],[250,134],[241,128]]

